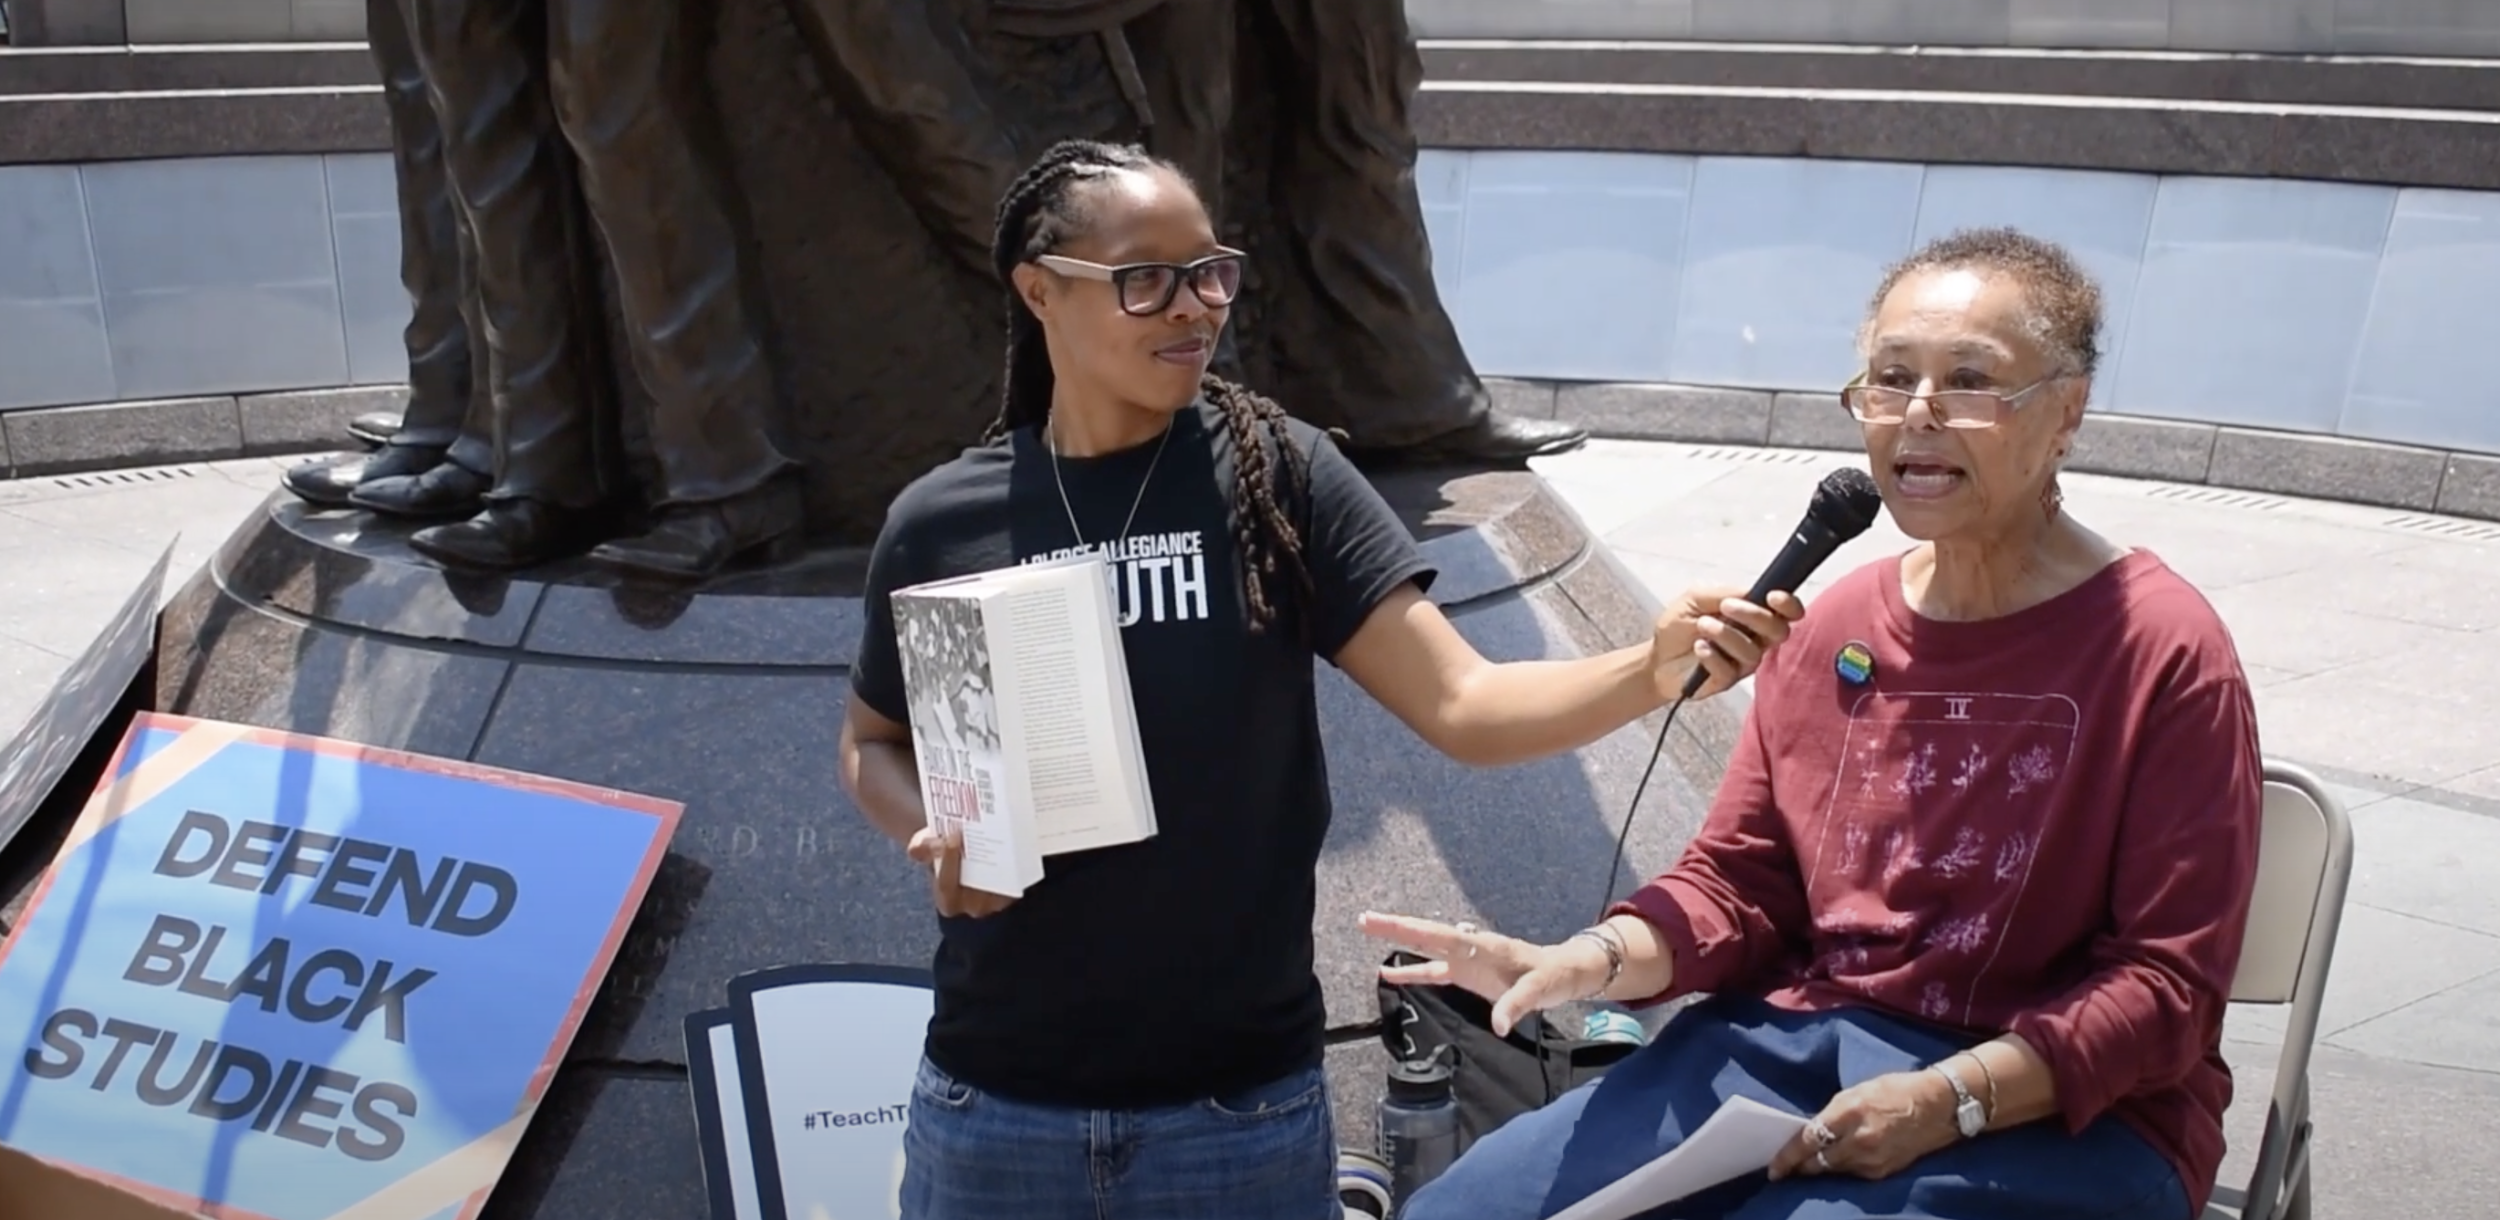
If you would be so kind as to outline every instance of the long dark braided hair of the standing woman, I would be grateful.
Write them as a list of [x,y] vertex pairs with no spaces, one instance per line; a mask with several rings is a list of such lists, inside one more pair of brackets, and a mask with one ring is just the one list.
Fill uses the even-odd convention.
[[[1120,172],[1170,172],[1180,182],[1190,178],[1172,162],[1148,155],[1135,145],[1108,145],[1098,140],[1060,140],[1025,170],[998,202],[998,238],[990,260],[1000,282],[1008,285],[1008,380],[998,400],[998,420],[982,440],[998,440],[1018,428],[1040,428],[1050,418],[1050,392],[1058,385],[1050,370],[1050,348],[1042,342],[1042,320],[1015,290],[1015,268],[1058,250],[1070,238],[1080,238],[1092,225],[1092,198],[1078,190]],[[1222,415],[1232,438],[1232,538],[1242,552],[1242,592],[1250,602],[1250,630],[1268,630],[1278,622],[1278,602],[1268,582],[1278,570],[1290,570],[1302,592],[1312,592],[1310,568],[1302,562],[1302,532],[1278,498],[1278,465],[1292,478],[1308,475],[1308,458],[1285,430],[1285,408],[1242,385],[1208,372],[1198,392]],[[1275,458],[1268,452],[1275,445]],[[1308,622],[1305,622],[1308,632]]]

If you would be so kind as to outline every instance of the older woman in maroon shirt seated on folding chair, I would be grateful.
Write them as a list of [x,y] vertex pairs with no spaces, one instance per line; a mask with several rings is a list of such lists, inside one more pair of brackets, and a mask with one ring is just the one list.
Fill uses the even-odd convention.
[[1885,275],[1842,395],[1918,540],[1755,678],[1710,815],[1560,945],[1365,915],[1392,982],[1495,1000],[1708,992],[1602,1080],[1482,1138],[1402,1220],[1548,1218],[1742,1095],[1812,1120],[1655,1215],[2190,1220],[2222,1160],[2222,1008],[2258,862],[2248,680],[2212,608],[2060,505],[2100,295],[1960,232]]

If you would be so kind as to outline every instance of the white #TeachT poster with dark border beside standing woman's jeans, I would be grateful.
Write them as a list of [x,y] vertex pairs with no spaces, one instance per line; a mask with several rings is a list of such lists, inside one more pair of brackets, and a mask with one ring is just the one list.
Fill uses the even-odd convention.
[[762,1220],[898,1220],[928,970],[792,965],[730,980]]

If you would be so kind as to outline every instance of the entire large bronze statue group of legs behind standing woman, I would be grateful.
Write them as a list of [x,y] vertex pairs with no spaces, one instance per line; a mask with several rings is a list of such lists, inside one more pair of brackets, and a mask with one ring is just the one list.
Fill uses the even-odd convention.
[[452,518],[410,538],[442,562],[702,578],[872,535],[988,418],[992,210],[1068,135],[1200,180],[1252,252],[1222,365],[1352,452],[1585,438],[1495,412],[1432,285],[1400,0],[370,2],[410,410],[288,485]]

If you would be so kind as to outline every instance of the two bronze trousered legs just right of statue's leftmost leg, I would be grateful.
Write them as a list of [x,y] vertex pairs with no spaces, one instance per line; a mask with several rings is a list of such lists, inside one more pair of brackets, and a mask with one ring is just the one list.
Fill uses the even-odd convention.
[[[490,350],[495,485],[462,522],[410,545],[442,562],[525,568],[595,542],[595,560],[672,578],[795,540],[795,462],[775,440],[750,252],[732,222],[688,0],[412,0],[415,48],[475,238]],[[572,190],[615,272],[628,365],[650,392],[638,538],[618,512],[600,430],[598,268]]]

